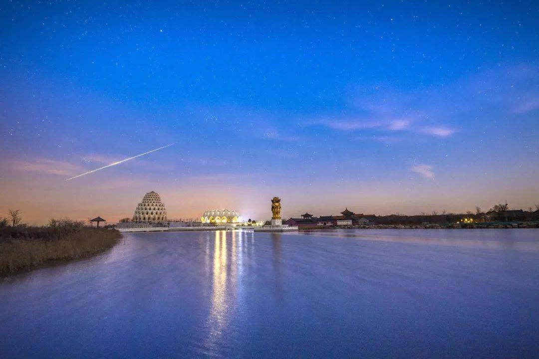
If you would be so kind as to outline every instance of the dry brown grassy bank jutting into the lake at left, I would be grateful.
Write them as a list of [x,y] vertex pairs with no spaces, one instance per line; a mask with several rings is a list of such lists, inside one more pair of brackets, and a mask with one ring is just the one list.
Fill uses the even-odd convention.
[[119,242],[117,230],[91,227],[0,228],[0,273],[98,254]]

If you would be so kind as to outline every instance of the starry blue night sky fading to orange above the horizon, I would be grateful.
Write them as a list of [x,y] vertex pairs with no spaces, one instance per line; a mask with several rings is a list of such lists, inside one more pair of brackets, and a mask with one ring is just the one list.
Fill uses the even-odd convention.
[[[0,4],[0,216],[539,203],[539,3]],[[66,178],[174,143],[84,177]]]

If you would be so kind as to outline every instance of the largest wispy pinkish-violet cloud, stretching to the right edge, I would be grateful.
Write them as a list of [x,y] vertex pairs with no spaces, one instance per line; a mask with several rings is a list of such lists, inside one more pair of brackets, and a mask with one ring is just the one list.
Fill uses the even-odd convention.
[[[417,133],[448,138],[462,126],[539,110],[539,67],[512,66],[467,74],[453,83],[399,91],[379,84],[358,87],[349,106],[307,125],[337,131]],[[475,128],[478,128],[475,126]]]

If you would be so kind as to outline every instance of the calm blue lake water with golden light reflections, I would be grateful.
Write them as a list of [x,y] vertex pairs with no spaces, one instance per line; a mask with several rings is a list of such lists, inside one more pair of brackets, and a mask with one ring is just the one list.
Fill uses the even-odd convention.
[[140,233],[0,280],[1,358],[539,357],[539,230]]

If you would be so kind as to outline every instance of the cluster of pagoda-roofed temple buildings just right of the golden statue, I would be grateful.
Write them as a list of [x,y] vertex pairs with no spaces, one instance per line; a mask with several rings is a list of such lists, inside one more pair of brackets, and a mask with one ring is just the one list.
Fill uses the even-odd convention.
[[368,224],[375,219],[374,214],[354,213],[348,208],[341,212],[340,216],[320,216],[315,217],[310,213],[301,215],[301,218],[290,218],[285,221],[289,226],[300,228],[315,228],[324,226],[355,226],[357,224]]

